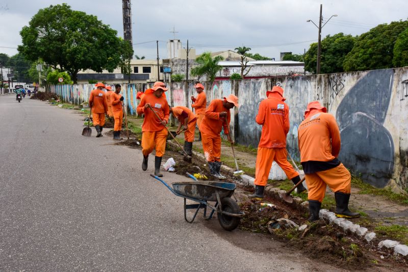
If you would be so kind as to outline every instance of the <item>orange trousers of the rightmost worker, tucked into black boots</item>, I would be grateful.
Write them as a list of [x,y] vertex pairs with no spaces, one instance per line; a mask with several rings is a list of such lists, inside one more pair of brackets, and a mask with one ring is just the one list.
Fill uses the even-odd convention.
[[343,163],[339,166],[324,171],[306,174],[306,185],[308,185],[308,199],[322,202],[326,193],[326,186],[334,192],[350,193],[351,175],[344,167]]

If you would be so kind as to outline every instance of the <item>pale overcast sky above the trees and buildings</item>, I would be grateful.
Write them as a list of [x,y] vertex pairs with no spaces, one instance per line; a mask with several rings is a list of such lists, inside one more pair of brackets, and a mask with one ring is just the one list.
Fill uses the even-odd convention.
[[[17,53],[19,32],[39,9],[67,3],[73,10],[93,14],[123,37],[121,0],[0,0],[0,53]],[[407,0],[132,0],[135,54],[167,58],[166,42],[174,36],[183,46],[205,51],[252,48],[250,53],[279,60],[280,52],[303,53],[318,38],[319,8],[323,21],[337,14],[322,28],[322,38],[339,32],[360,35],[380,23],[406,20]],[[138,44],[139,43],[139,44]],[[14,47],[14,48],[7,48]]]

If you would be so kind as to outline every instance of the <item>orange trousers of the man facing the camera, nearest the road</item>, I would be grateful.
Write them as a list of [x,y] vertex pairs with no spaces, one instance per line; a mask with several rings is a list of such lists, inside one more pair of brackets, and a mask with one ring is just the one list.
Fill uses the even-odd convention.
[[142,153],[149,155],[156,148],[156,156],[163,157],[166,150],[167,130],[142,132]]

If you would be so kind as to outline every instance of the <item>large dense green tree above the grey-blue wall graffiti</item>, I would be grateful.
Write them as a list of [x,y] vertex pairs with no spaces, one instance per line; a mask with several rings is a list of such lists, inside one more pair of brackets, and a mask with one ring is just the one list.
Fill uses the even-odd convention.
[[394,44],[400,33],[408,28],[408,21],[379,24],[362,34],[347,54],[345,71],[362,71],[393,67]]

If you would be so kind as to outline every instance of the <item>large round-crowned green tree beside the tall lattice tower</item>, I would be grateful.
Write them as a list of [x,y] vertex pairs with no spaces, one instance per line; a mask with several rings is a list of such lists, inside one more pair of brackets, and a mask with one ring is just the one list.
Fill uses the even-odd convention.
[[67,4],[40,9],[20,35],[20,53],[31,61],[41,58],[55,69],[68,71],[74,83],[82,69],[112,72],[125,54],[125,41],[115,30]]

